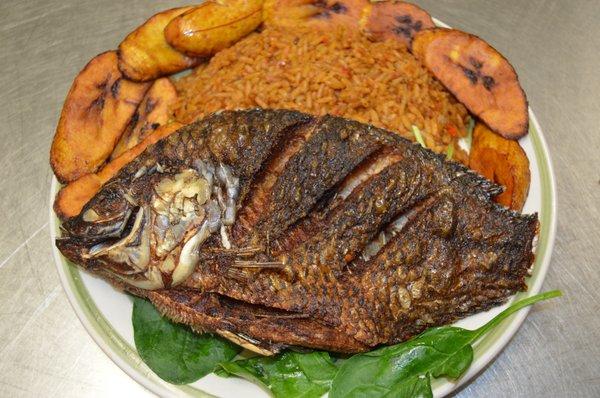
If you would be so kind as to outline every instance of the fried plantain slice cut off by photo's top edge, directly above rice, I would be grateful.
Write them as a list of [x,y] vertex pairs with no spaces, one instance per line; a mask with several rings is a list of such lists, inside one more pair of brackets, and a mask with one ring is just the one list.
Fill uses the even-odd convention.
[[342,25],[359,29],[366,23],[368,5],[367,0],[265,0],[264,23],[281,27],[330,29]]

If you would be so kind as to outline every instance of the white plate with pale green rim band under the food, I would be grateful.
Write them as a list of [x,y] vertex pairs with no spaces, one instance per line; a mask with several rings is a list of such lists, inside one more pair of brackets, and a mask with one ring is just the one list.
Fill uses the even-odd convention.
[[[438,21],[439,25],[445,26]],[[518,294],[513,300],[537,293],[546,274],[555,234],[555,182],[550,156],[545,139],[535,115],[529,110],[529,134],[520,140],[531,165],[531,186],[525,203],[524,213],[539,214],[540,233],[537,241],[536,261],[529,290]],[[51,187],[51,201],[59,189],[56,178]],[[59,220],[50,209],[51,239],[53,253],[61,282],[67,296],[83,325],[105,351],[105,353],[127,374],[149,390],[161,396],[265,396],[259,387],[241,379],[223,379],[209,375],[186,386],[175,386],[159,379],[141,360],[133,343],[131,325],[131,298],[94,276],[81,272],[70,264],[54,246],[54,240],[60,236]],[[494,308],[463,319],[457,325],[468,329],[476,328],[504,307]],[[474,361],[470,369],[457,381],[438,379],[433,382],[434,394],[444,396],[468,381],[483,369],[508,343],[527,315],[527,310],[505,321],[500,327],[488,334],[475,345]]]

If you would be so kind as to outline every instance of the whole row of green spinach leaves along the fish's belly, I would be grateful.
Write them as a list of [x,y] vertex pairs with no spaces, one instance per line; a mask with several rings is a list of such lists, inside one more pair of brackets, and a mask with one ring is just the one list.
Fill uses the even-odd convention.
[[[135,298],[135,344],[146,364],[162,379],[191,383],[210,373],[238,376],[276,398],[432,397],[431,379],[457,379],[471,366],[473,344],[520,309],[561,296],[558,290],[512,304],[476,330],[431,328],[394,346],[354,355],[336,363],[326,352],[285,352],[233,361],[241,350],[212,335],[197,335],[162,317],[149,302]],[[337,365],[337,366],[336,366]]]

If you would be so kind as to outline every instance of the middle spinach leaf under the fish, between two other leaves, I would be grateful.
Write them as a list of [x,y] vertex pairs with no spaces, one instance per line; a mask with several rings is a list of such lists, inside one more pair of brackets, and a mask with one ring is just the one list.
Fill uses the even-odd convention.
[[255,382],[275,397],[320,397],[331,386],[337,367],[326,352],[285,352],[275,357],[254,357],[221,363],[216,373],[233,374]]

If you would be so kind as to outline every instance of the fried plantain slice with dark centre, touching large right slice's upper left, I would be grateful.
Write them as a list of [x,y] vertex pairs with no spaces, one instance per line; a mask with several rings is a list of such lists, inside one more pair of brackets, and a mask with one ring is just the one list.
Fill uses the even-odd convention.
[[368,3],[363,14],[361,29],[368,37],[399,40],[407,47],[416,32],[435,27],[427,11],[403,1]]

